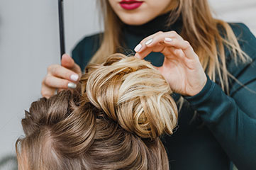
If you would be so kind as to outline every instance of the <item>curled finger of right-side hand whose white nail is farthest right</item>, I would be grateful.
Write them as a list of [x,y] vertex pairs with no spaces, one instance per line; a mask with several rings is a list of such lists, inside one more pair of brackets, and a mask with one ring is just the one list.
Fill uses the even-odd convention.
[[186,40],[178,40],[176,38],[169,38],[166,37],[165,40],[165,45],[167,46],[172,46],[175,48],[180,48],[184,52],[184,55],[188,57],[189,59],[194,59],[197,57],[196,53],[194,52],[193,48],[189,44],[188,41]]

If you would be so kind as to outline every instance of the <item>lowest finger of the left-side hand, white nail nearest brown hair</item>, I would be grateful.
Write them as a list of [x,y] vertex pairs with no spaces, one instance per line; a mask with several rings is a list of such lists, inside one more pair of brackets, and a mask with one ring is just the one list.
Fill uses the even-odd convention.
[[58,77],[47,76],[43,81],[43,85],[51,89],[75,89],[77,84],[68,81],[67,79],[60,79]]

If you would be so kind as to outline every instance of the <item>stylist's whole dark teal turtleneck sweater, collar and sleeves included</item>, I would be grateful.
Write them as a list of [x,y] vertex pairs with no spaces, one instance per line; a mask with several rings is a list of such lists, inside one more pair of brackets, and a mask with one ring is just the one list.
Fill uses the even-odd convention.
[[[182,20],[166,27],[167,14],[143,26],[123,26],[123,48],[126,55],[143,38],[157,31],[175,30],[180,33]],[[240,47],[252,61],[236,65],[226,50],[228,71],[247,88],[256,91],[256,38],[243,23],[230,23]],[[81,69],[99,48],[99,34],[82,39],[72,52]],[[145,58],[155,66],[162,65],[163,55],[152,53]],[[169,157],[170,169],[219,170],[256,169],[256,92],[253,93],[230,80],[228,96],[216,82],[207,80],[196,96],[184,97],[179,123],[172,136],[162,137]],[[179,94],[173,95],[175,101]],[[196,116],[194,113],[196,111]]]

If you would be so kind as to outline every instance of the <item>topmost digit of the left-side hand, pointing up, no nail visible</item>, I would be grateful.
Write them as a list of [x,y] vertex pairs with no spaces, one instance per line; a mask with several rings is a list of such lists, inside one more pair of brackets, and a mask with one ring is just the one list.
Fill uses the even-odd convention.
[[77,65],[72,59],[72,57],[70,57],[67,54],[62,55],[61,64],[63,67],[66,67],[67,69],[71,69],[73,72],[77,74],[82,74],[79,65]]

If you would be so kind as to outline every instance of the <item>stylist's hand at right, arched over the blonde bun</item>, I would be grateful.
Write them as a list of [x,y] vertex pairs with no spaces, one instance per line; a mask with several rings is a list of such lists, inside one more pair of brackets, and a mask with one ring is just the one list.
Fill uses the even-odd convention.
[[172,91],[194,96],[204,88],[207,78],[198,55],[189,42],[174,31],[158,32],[135,47],[135,57],[144,59],[150,52],[165,55],[162,67],[155,67],[167,79]]

